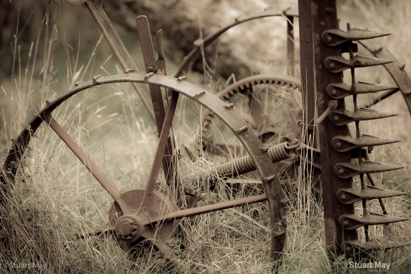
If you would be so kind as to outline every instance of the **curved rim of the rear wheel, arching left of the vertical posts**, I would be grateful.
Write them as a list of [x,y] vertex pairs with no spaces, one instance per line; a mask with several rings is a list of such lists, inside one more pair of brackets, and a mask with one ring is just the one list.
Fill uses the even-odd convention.
[[295,9],[286,9],[282,13],[278,13],[278,11],[267,9],[256,14],[245,16],[244,18],[235,18],[234,23],[221,27],[216,32],[204,38],[202,41],[197,40],[194,43],[195,47],[190,51],[188,55],[184,57],[183,61],[181,62],[180,66],[178,67],[177,71],[173,74],[173,76],[179,77],[181,75],[186,74],[191,69],[191,66],[194,64],[194,62],[201,56],[201,48],[206,48],[207,46],[212,44],[222,33],[226,32],[230,28],[237,26],[241,23],[251,21],[253,19],[271,16],[296,17],[298,16],[298,12]]

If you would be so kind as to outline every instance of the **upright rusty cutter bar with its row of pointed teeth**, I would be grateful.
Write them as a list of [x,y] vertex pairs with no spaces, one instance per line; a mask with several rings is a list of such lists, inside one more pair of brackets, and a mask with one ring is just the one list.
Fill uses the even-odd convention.
[[[368,226],[387,224],[406,220],[401,217],[388,216],[381,198],[402,194],[398,191],[376,189],[370,173],[383,172],[401,168],[398,165],[376,163],[368,160],[367,153],[373,145],[394,143],[389,140],[364,136],[360,131],[360,121],[381,119],[395,114],[370,109],[361,109],[357,103],[357,94],[377,92],[394,88],[389,86],[365,86],[356,81],[356,68],[385,65],[394,62],[386,58],[375,58],[354,55],[358,39],[369,39],[386,35],[378,32],[352,30],[347,24],[347,32],[338,29],[337,13],[334,1],[312,1],[313,37],[315,41],[314,60],[316,76],[316,94],[319,113],[326,113],[327,102],[338,99],[339,106],[328,114],[328,119],[320,124],[322,184],[324,200],[324,219],[326,245],[331,256],[338,253],[351,253],[352,246],[347,242],[357,241],[356,229],[364,226],[365,241],[370,241]],[[324,29],[326,28],[326,29]],[[320,38],[320,33],[322,33]],[[340,46],[339,46],[340,45]],[[343,58],[343,52],[349,53],[349,58]],[[343,70],[350,69],[351,85],[342,84]],[[331,72],[331,74],[330,74]],[[357,90],[357,88],[359,90]],[[347,97],[349,96],[349,97]],[[354,111],[345,109],[344,97],[352,100]],[[343,105],[340,105],[340,104]],[[354,122],[355,137],[348,135],[347,124]],[[325,150],[325,151],[324,151]],[[324,154],[324,152],[326,154]],[[343,160],[343,159],[346,160]],[[357,159],[356,162],[351,159]],[[330,165],[332,164],[332,165]],[[332,169],[332,172],[330,172]],[[325,174],[324,174],[325,173]],[[358,175],[361,191],[352,189],[352,177]],[[368,180],[368,181],[366,181]],[[371,184],[371,187],[367,185]],[[377,195],[377,197],[376,197]],[[382,215],[368,212],[367,199],[379,199],[383,209]],[[352,204],[362,201],[363,216],[353,212]],[[337,223],[339,225],[337,225]]]

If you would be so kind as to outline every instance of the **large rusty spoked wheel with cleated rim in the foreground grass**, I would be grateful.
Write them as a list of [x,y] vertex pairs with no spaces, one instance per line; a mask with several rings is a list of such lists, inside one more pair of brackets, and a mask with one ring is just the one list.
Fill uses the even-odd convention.
[[[169,97],[169,107],[167,108],[167,113],[164,118],[163,129],[159,137],[159,144],[146,186],[144,189],[131,190],[125,193],[119,191],[116,185],[106,177],[89,156],[87,156],[84,150],[72,140],[69,134],[51,115],[63,102],[80,91],[102,84],[120,82],[143,83],[172,90],[171,96]],[[91,90],[95,89],[88,89],[88,91]],[[237,136],[238,140],[249,153],[248,161],[251,165],[254,165],[253,168],[257,170],[264,186],[265,194],[239,198],[208,206],[177,210],[173,208],[169,198],[155,189],[161,166],[159,159],[164,155],[165,140],[172,126],[171,122],[173,121],[179,94],[183,94],[213,111]],[[4,172],[1,177],[3,183],[9,184],[10,186],[13,184],[18,162],[22,159],[33,134],[35,134],[41,124],[47,123],[114,199],[115,203],[109,213],[110,223],[102,230],[114,231],[115,238],[121,242],[123,249],[132,249],[138,245],[143,238],[151,241],[167,258],[175,261],[176,257],[166,241],[173,236],[175,232],[175,222],[177,220],[268,200],[271,219],[270,257],[274,261],[281,258],[286,237],[284,194],[273,163],[267,153],[268,147],[263,146],[247,123],[239,118],[233,110],[232,104],[227,104],[206,90],[188,83],[185,77],[175,79],[174,77],[156,75],[154,73],[135,73],[133,70],[127,71],[125,74],[113,76],[97,75],[91,81],[77,83],[76,86],[66,94],[57,99],[53,97],[47,100],[46,103],[47,106],[34,116],[16,139],[12,140],[12,147],[4,163]],[[231,166],[233,165],[235,168],[235,164]],[[227,169],[225,169],[225,172],[227,173]],[[218,173],[216,175],[218,175]],[[228,174],[223,175],[227,177]],[[138,202],[136,202],[136,199]],[[159,208],[162,210],[159,210]],[[153,226],[157,227],[158,231],[153,229]]]

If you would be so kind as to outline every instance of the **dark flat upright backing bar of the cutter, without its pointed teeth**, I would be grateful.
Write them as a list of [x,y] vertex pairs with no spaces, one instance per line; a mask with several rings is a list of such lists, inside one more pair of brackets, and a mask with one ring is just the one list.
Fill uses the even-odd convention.
[[[324,61],[328,56],[341,55],[340,47],[327,46],[321,39],[321,34],[327,29],[337,29],[337,7],[335,0],[300,0],[305,10],[300,10],[300,22],[303,18],[312,18],[313,43],[307,51],[311,50],[315,66],[316,105],[319,114],[323,113],[331,97],[326,88],[330,83],[342,83],[342,73],[331,73]],[[307,10],[308,9],[308,10]],[[308,52],[309,54],[309,52]],[[338,109],[345,109],[344,100],[338,100]],[[344,242],[356,240],[355,230],[344,230],[338,222],[342,214],[354,213],[353,205],[346,205],[336,199],[335,193],[340,188],[351,187],[351,178],[342,179],[334,173],[334,165],[340,162],[350,162],[349,152],[338,152],[331,147],[331,140],[337,135],[347,135],[347,126],[336,126],[328,119],[319,125],[320,150],[321,150],[321,183],[323,189],[324,223],[326,247],[330,256],[344,251]]]

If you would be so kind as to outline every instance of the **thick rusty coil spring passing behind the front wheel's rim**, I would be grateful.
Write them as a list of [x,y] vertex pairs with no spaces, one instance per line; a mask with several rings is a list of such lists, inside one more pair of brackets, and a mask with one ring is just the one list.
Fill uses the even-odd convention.
[[[291,150],[298,147],[299,144],[290,146],[290,143],[284,142],[268,149],[271,161],[278,163],[291,157]],[[249,155],[238,158],[232,162],[223,163],[216,166],[217,176],[226,177],[228,175],[241,175],[255,170],[255,165]]]

